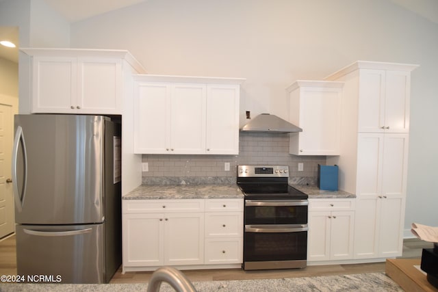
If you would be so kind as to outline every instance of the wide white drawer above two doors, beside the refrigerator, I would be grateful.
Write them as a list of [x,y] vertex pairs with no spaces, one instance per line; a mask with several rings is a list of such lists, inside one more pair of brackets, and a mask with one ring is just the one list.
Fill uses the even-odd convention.
[[123,213],[204,211],[204,200],[123,200]]

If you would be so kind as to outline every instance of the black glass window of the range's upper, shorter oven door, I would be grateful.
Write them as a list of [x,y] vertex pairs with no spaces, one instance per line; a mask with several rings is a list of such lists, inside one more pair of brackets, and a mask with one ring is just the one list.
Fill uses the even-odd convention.
[[246,206],[245,224],[307,224],[307,206]]

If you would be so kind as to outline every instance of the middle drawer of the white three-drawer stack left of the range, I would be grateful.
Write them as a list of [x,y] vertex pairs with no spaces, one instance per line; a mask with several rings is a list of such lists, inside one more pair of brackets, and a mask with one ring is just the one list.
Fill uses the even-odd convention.
[[205,213],[205,237],[236,237],[243,234],[243,213]]

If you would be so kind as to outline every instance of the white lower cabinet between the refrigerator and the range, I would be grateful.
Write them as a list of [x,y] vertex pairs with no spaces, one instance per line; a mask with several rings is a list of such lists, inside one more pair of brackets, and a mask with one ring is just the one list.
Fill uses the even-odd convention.
[[242,252],[243,199],[123,200],[124,272],[238,267]]

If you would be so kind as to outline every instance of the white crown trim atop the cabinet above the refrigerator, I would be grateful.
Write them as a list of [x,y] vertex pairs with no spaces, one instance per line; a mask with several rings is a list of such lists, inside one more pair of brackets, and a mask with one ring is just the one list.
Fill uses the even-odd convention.
[[21,48],[29,56],[38,57],[112,57],[125,59],[138,73],[146,74],[143,65],[127,50],[68,49],[68,48]]

